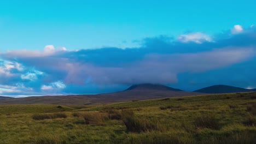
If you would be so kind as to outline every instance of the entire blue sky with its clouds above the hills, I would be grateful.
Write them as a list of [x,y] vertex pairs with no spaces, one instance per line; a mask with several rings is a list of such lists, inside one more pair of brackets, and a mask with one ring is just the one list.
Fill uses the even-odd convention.
[[256,1],[1,1],[0,95],[256,88]]

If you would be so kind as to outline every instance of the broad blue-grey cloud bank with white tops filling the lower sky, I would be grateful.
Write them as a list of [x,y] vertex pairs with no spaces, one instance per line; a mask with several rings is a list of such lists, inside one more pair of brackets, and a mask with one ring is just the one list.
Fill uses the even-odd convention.
[[[145,38],[139,47],[0,54],[0,94],[101,93],[138,83],[193,90],[214,84],[256,87],[256,29],[235,25],[229,32],[193,32]],[[214,77],[214,78],[213,78]]]

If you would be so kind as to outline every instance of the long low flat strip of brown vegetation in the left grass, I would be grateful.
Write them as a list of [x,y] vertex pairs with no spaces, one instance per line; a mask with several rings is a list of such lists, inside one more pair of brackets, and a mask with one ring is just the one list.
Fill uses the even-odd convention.
[[34,120],[67,118],[65,113],[36,113],[32,116]]

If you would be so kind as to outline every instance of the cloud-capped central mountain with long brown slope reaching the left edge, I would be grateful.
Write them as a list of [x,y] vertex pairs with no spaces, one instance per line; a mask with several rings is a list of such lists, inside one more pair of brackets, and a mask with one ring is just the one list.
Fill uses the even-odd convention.
[[125,91],[114,93],[0,99],[0,104],[96,105],[199,94],[204,93],[185,92],[181,89],[147,83],[142,85],[133,85],[127,88]]

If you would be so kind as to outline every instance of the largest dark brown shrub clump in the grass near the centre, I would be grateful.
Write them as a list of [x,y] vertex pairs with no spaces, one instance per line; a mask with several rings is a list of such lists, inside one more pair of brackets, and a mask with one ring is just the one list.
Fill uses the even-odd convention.
[[152,130],[165,130],[165,127],[163,127],[160,122],[150,121],[149,119],[145,118],[138,118],[132,111],[123,111],[123,117],[126,130],[130,132],[141,133]]

